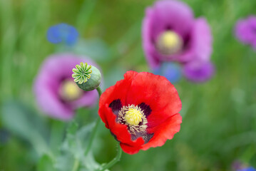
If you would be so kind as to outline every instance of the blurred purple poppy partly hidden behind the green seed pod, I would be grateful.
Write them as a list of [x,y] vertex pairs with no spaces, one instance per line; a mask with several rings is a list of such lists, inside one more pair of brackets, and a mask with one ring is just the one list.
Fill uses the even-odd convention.
[[49,56],[43,62],[36,76],[34,93],[39,107],[46,115],[69,120],[77,108],[90,107],[96,103],[96,90],[85,92],[73,81],[72,69],[81,62],[98,68],[91,59],[68,53]]

